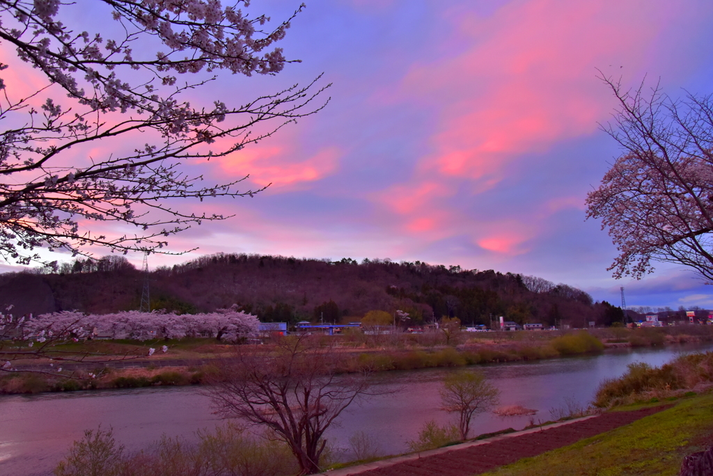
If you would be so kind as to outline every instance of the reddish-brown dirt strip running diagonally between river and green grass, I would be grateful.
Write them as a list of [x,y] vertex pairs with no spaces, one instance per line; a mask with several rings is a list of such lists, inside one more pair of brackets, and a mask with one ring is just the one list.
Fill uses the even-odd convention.
[[630,412],[612,412],[548,428],[501,435],[490,440],[463,443],[421,455],[396,457],[343,470],[330,471],[331,476],[471,476],[508,465],[523,457],[532,457],[579,440],[628,425],[670,405],[642,408]]

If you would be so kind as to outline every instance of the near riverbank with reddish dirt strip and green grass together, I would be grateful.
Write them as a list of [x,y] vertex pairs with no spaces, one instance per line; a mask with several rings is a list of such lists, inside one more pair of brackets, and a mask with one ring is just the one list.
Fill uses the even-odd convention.
[[602,415],[332,470],[332,476],[677,475],[713,435],[713,395]]

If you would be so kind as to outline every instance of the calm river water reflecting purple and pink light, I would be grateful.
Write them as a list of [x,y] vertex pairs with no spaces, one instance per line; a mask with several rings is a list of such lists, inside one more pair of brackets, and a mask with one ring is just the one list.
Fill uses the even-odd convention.
[[[708,351],[705,346],[621,349],[599,356],[478,366],[501,390],[501,406],[523,405],[538,410],[533,417],[476,415],[472,435],[505,428],[520,430],[553,419],[550,410],[565,399],[586,406],[599,383],[621,376],[635,361],[660,366],[678,353]],[[376,395],[347,408],[339,426],[327,438],[349,457],[349,437],[364,432],[384,455],[404,452],[428,420],[447,423],[453,415],[440,409],[438,386],[453,369],[424,369],[379,373],[374,385],[391,393]],[[93,390],[42,395],[0,396],[0,475],[45,476],[85,430],[113,428],[128,450],[148,447],[162,435],[195,440],[195,431],[221,423],[212,414],[210,399],[197,387]]]

